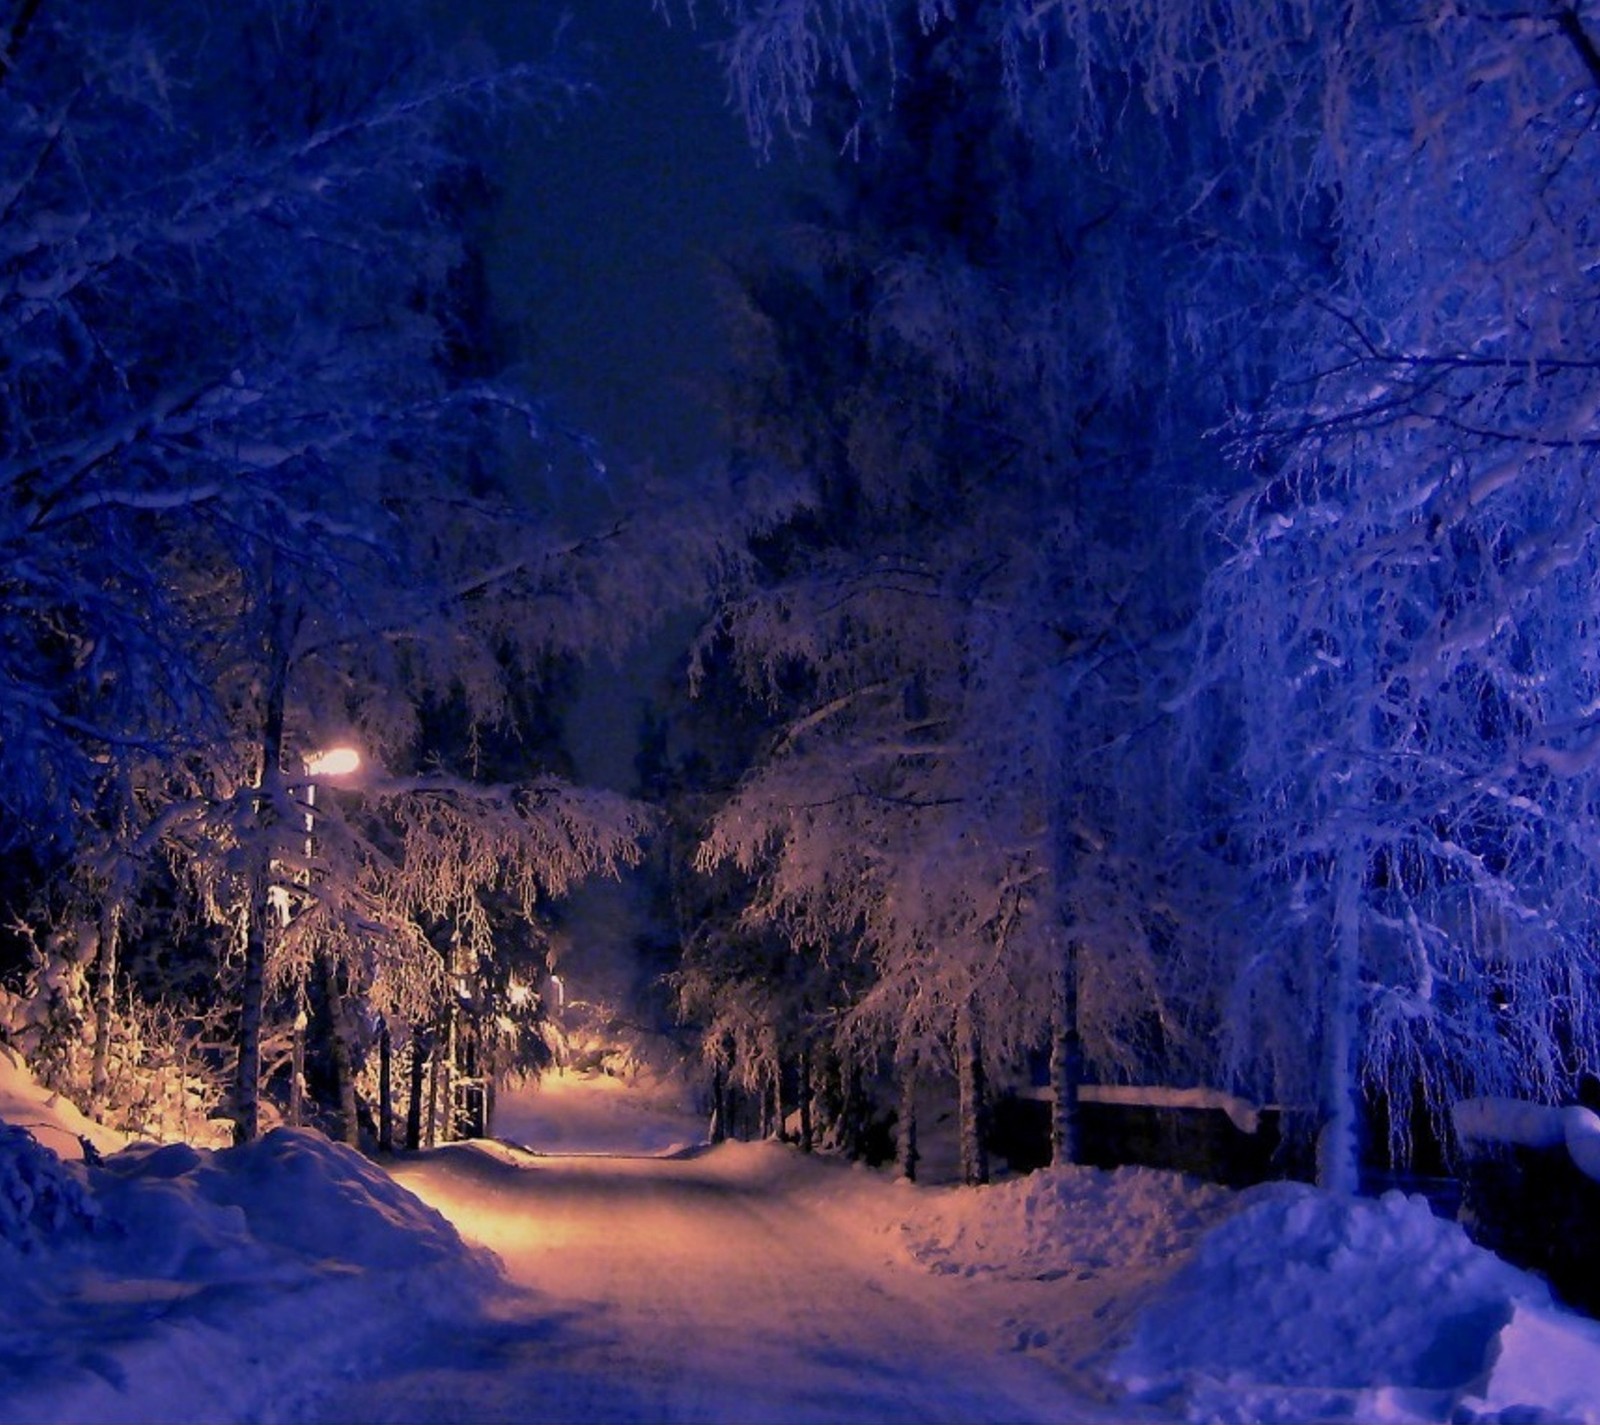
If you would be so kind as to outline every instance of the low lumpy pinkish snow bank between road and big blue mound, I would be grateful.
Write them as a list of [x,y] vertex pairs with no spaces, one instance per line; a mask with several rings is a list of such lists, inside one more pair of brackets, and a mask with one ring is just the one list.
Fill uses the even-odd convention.
[[1187,1252],[1237,1204],[1227,1188],[1155,1168],[1045,1168],[931,1190],[901,1238],[931,1271],[1085,1279]]

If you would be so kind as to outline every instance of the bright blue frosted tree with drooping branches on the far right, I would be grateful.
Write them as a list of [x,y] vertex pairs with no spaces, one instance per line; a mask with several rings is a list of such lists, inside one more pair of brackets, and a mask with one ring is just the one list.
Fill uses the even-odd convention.
[[1104,176],[1118,238],[1162,235],[1170,329],[1226,373],[1246,481],[1174,822],[1254,888],[1218,961],[1238,1072],[1317,1102],[1341,1187],[1363,1083],[1402,1139],[1413,1094],[1437,1118],[1570,1091],[1595,1043],[1590,6],[723,11],[760,136],[835,83],[869,126],[893,112],[864,56],[898,18],[987,26],[979,88],[1003,75],[1040,152]]

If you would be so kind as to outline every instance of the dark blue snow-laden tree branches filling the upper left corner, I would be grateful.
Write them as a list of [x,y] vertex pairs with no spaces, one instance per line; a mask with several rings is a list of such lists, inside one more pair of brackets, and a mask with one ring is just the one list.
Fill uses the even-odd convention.
[[[0,101],[3,785],[8,836],[69,843],[118,755],[218,731],[245,576],[325,557],[352,467],[376,497],[370,453],[448,424],[426,309],[454,240],[426,181],[440,106],[488,80],[418,74],[398,10],[365,74],[318,34],[331,6],[26,19]],[[285,86],[294,46],[320,62]]]

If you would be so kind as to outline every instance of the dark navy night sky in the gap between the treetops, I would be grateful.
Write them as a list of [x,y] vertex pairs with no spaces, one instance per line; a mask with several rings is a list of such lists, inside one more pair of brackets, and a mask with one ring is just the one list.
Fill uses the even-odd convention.
[[[443,8],[443,6],[442,6]],[[502,61],[550,53],[538,0],[458,0]],[[523,123],[496,230],[493,289],[530,382],[608,462],[682,470],[715,454],[694,398],[722,347],[709,269],[778,221],[797,165],[760,165],[709,37],[650,0],[581,0],[560,50],[598,93],[554,128]]]

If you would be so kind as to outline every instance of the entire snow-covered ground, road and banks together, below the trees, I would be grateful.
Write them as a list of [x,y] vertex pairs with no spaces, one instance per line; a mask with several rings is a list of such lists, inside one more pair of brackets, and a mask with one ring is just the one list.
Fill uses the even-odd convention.
[[0,1422],[1600,1422],[1600,1327],[1419,1198],[910,1187],[578,1076],[389,1169],[123,1147],[3,1051],[0,1120]]

